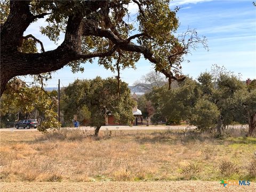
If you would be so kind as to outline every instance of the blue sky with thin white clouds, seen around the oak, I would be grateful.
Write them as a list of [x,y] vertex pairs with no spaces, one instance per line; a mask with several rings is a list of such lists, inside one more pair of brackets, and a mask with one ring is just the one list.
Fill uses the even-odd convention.
[[[243,80],[256,78],[256,7],[252,5],[252,1],[174,0],[170,6],[181,6],[177,13],[180,21],[178,34],[189,27],[195,28],[199,35],[208,39],[209,51],[198,47],[196,51],[191,51],[192,55],[186,56],[190,62],[182,64],[183,74],[196,78],[202,71],[210,70],[213,64],[217,64],[225,66],[235,74],[241,73]],[[129,9],[132,13],[137,12],[134,5]],[[42,19],[33,23],[25,35],[33,34],[44,43],[46,51],[53,50],[57,45],[39,32],[39,26],[44,25]],[[63,35],[59,44],[62,40]],[[85,63],[84,68],[84,73],[73,74],[69,67],[64,67],[53,73],[53,79],[47,86],[57,86],[58,78],[61,86],[67,86],[76,78],[116,75],[98,66],[96,62]],[[136,70],[125,69],[121,78],[132,85],[150,70],[153,70],[151,63],[141,59]]]

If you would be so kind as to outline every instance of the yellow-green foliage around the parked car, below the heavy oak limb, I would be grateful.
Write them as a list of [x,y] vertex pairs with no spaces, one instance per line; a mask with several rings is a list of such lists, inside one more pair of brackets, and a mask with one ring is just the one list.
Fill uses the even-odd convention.
[[20,79],[13,78],[1,98],[1,120],[6,115],[12,115],[12,121],[15,121],[19,113],[19,119],[36,118],[40,123],[39,131],[58,129],[56,93],[46,93],[41,87],[28,86]]

